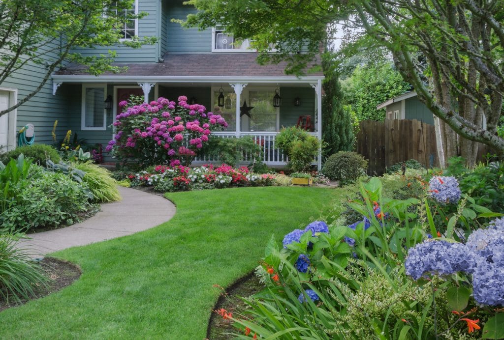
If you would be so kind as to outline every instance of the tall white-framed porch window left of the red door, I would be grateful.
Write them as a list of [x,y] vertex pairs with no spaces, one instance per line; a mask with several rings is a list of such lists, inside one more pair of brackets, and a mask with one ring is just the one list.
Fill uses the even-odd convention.
[[106,130],[107,110],[106,84],[83,84],[82,86],[82,130]]

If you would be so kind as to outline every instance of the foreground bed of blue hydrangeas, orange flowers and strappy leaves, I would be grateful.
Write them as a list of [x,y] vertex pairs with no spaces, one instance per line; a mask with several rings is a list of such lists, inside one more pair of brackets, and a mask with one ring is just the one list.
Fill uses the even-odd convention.
[[257,269],[266,289],[248,310],[217,312],[241,338],[503,337],[502,214],[454,177],[424,185],[420,199],[390,199],[372,178],[349,203],[359,221],[272,238]]

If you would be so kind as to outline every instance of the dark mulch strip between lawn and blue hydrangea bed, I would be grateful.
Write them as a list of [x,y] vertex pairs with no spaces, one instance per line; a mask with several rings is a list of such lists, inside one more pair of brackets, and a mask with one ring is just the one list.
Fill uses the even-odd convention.
[[[249,273],[225,289],[217,300],[213,310],[224,308],[228,312],[233,313],[233,316],[238,316],[238,314],[243,313],[247,306],[240,297],[246,298],[259,293],[263,289],[264,286],[259,283],[259,279],[254,273]],[[208,339],[234,339],[236,338],[235,336],[226,333],[239,332],[240,330],[233,326],[233,321],[224,320],[222,316],[212,311],[207,327]]]

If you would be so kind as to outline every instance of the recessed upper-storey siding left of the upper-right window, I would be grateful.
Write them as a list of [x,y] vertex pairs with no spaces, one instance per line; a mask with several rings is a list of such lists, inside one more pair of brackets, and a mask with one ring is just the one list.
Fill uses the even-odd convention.
[[[196,10],[192,6],[182,5],[182,0],[169,1],[167,11],[166,38],[167,51],[170,53],[208,53],[212,51],[212,29],[198,31],[197,28],[183,29],[171,19],[185,20],[187,15]],[[163,23],[164,25],[165,23]]]

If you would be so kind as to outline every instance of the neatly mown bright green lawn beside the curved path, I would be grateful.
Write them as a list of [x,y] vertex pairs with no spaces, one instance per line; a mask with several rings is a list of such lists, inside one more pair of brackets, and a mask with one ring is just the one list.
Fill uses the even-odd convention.
[[70,287],[0,313],[0,338],[203,339],[227,286],[254,269],[271,237],[304,227],[341,189],[242,188],[168,194],[160,226],[54,254],[82,268]]

